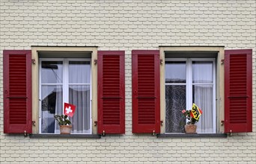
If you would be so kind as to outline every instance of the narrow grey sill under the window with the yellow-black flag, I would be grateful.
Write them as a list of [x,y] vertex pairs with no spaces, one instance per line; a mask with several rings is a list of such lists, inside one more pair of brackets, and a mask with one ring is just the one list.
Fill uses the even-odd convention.
[[227,133],[173,133],[158,134],[157,138],[227,138]]

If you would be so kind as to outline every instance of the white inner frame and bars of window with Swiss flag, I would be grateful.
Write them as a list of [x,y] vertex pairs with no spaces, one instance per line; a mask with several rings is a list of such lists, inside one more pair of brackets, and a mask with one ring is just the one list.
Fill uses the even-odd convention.
[[[38,107],[38,119],[39,119],[39,126],[38,126],[38,130],[39,133],[42,133],[41,131],[41,123],[42,123],[42,119],[41,119],[41,114],[42,114],[42,109],[41,109],[41,87],[42,87],[42,83],[41,83],[41,72],[42,72],[42,61],[62,61],[63,63],[63,78],[62,78],[62,89],[63,89],[63,101],[62,101],[62,107],[64,107],[64,103],[68,102],[68,86],[69,86],[69,79],[68,79],[68,63],[69,61],[89,61],[90,62],[90,83],[82,83],[83,85],[89,85],[90,86],[90,129],[88,130],[88,133],[77,133],[77,134],[92,134],[92,108],[91,108],[91,101],[92,101],[92,73],[91,73],[91,58],[40,58],[39,59],[39,107]],[[55,84],[56,85],[56,84]],[[66,96],[65,96],[66,95]],[[64,113],[64,110],[62,110],[62,112]],[[55,133],[43,133],[43,134],[55,134]],[[76,133],[72,133],[72,134],[76,134]]]

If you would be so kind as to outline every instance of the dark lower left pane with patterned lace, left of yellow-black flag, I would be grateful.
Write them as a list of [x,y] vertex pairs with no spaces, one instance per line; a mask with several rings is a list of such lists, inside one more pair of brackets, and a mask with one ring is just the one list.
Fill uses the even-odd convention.
[[184,133],[186,118],[182,110],[186,110],[186,86],[165,86],[165,132]]

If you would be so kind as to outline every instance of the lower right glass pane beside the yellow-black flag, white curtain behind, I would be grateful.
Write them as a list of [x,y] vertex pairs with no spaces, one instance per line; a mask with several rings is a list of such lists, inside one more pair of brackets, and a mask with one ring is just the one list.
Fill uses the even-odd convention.
[[197,123],[198,133],[215,133],[213,130],[213,85],[193,85],[192,101],[203,111]]

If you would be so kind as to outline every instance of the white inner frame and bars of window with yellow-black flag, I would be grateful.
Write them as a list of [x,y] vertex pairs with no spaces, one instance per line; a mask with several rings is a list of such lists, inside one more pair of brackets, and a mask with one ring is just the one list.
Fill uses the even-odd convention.
[[[186,62],[186,83],[165,83],[166,85],[186,85],[186,110],[192,108],[192,86],[196,84],[213,85],[213,133],[216,133],[216,59],[215,58],[165,58],[165,61],[185,61]],[[192,83],[192,62],[193,61],[213,61],[213,83]],[[166,71],[166,70],[165,70]],[[165,75],[164,75],[165,79]],[[165,92],[165,89],[164,89]],[[165,108],[166,116],[166,108]],[[188,122],[186,120],[186,122]],[[166,130],[166,127],[165,129]],[[167,133],[166,134],[171,134]]]

